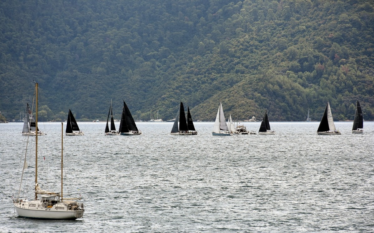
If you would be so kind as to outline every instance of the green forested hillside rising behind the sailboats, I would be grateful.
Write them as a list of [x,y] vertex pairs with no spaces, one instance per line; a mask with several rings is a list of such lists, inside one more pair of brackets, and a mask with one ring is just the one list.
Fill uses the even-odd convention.
[[213,121],[374,119],[374,2],[360,0],[1,0],[0,111],[19,119],[39,82],[39,117],[135,119],[179,102]]

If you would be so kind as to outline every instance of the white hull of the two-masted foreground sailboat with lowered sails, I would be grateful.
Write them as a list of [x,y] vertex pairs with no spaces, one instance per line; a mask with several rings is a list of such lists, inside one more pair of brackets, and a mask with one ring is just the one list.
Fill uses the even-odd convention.
[[[25,207],[21,207],[23,206]],[[83,210],[64,210],[43,208],[42,206],[34,207],[27,205],[27,202],[14,203],[17,214],[27,218],[43,218],[43,219],[77,219],[83,218]]]

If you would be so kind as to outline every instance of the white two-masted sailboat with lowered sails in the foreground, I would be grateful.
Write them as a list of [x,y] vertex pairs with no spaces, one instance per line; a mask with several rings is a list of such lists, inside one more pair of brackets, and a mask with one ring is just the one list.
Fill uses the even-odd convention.
[[[36,90],[38,88],[38,83],[35,85]],[[38,93],[36,91],[36,120],[35,125],[38,126]],[[25,153],[24,166],[22,169],[21,184],[19,186],[18,195],[16,198],[13,198],[13,205],[16,209],[17,214],[20,217],[27,218],[40,218],[40,219],[77,219],[83,218],[83,203],[79,202],[80,198],[63,198],[62,196],[62,167],[63,167],[63,123],[61,122],[61,193],[56,193],[52,191],[42,190],[38,183],[38,135],[35,135],[35,198],[33,200],[27,200],[26,197],[21,197],[21,187],[22,187],[22,178],[25,169],[28,168],[26,162],[27,146]]]

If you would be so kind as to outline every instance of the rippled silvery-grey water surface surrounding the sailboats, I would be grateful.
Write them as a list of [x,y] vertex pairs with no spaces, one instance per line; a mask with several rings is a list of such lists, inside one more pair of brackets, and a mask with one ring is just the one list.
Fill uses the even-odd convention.
[[[1,124],[0,232],[374,231],[373,122],[361,135],[352,122],[335,122],[342,134],[327,136],[316,134],[319,122],[270,122],[277,135],[232,137],[212,136],[213,122],[172,136],[172,124],[138,122],[140,136],[104,136],[105,122],[79,122],[84,136],[64,136],[64,196],[85,205],[75,221],[16,217],[27,137],[23,123]],[[260,122],[244,125],[258,131]],[[61,123],[39,128],[47,135],[38,140],[38,181],[59,191]]]

